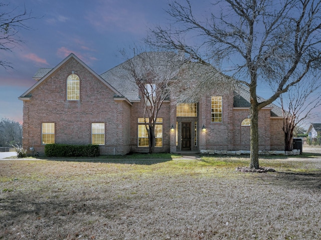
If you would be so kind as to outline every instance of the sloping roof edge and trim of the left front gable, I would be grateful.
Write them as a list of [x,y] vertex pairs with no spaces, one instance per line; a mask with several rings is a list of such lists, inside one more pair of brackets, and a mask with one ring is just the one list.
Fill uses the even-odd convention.
[[31,91],[39,86],[47,77],[49,77],[54,71],[60,68],[63,64],[65,64],[70,58],[74,58],[81,65],[83,65],[88,71],[90,71],[95,77],[97,77],[101,82],[103,82],[106,86],[108,86],[117,96],[123,96],[119,91],[117,91],[114,87],[112,87],[107,81],[105,81],[101,76],[99,76],[95,71],[93,71],[89,66],[87,66],[82,60],[80,60],[74,53],[70,53],[64,60],[62,60],[57,66],[54,68],[40,68],[33,76],[34,79],[39,79],[32,87],[30,87],[26,92],[24,92],[19,99],[26,100],[31,97]]

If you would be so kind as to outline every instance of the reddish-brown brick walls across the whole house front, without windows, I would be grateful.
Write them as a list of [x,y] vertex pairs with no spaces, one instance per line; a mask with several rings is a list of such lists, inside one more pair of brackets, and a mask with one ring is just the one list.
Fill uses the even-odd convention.
[[[72,71],[80,78],[79,101],[66,100],[67,77]],[[42,122],[54,122],[55,142],[68,144],[91,143],[91,123],[104,122],[105,145],[100,146],[101,154],[149,150],[148,147],[137,146],[137,119],[143,117],[143,101],[130,105],[124,100],[115,100],[114,92],[73,57],[31,93],[31,100],[24,101],[23,107],[24,148],[34,147],[35,151],[44,152]],[[198,117],[189,119],[192,123],[198,120],[198,146],[193,150],[248,150],[250,127],[241,126],[242,120],[248,116],[249,109],[233,109],[231,92],[223,95],[223,122],[211,122],[211,95],[203,96],[198,103]],[[176,128],[176,106],[164,102],[158,117],[163,118],[163,147],[155,147],[155,151],[176,152],[176,129],[171,132],[172,125]],[[205,132],[202,131],[203,125]],[[270,118],[270,109],[261,109],[259,149],[284,149],[282,132],[282,119]]]

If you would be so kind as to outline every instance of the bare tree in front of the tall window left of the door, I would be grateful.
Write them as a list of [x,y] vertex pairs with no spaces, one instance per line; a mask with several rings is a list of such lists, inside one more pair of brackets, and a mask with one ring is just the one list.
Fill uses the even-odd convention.
[[[124,53],[123,53],[124,54]],[[174,52],[142,52],[123,65],[138,87],[143,101],[143,117],[148,134],[149,153],[154,152],[155,127],[163,102],[169,100],[170,84],[182,60]]]

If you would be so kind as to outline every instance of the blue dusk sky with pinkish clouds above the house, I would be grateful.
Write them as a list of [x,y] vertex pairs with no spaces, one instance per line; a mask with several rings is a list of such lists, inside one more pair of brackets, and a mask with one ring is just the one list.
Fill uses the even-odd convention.
[[[168,0],[5,0],[8,10],[24,6],[33,17],[21,29],[25,41],[13,51],[1,50],[3,60],[13,69],[0,66],[0,119],[23,122],[23,101],[18,97],[36,81],[39,67],[55,67],[71,52],[96,73],[101,74],[124,61],[120,49],[131,52],[139,45],[148,28],[167,24]],[[191,0],[199,12],[208,11],[209,0]],[[3,10],[3,9],[2,9]],[[143,47],[143,46],[142,46]],[[258,89],[264,95],[268,89]],[[316,121],[321,119],[316,119]]]

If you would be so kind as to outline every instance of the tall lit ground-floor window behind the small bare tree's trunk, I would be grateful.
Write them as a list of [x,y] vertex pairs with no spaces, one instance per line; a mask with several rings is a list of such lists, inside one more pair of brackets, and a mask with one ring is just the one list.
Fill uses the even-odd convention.
[[[145,125],[149,122],[149,118],[138,118],[138,147],[148,147],[149,141],[148,141],[148,132],[146,129],[146,126],[148,128],[148,125]],[[155,124],[155,147],[162,147],[163,146],[163,118],[159,117],[156,119]]]

